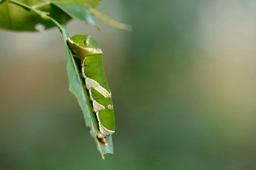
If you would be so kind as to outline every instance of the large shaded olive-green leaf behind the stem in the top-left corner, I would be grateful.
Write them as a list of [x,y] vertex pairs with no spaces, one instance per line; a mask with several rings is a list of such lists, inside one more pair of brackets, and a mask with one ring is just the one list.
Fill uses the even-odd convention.
[[[56,0],[57,1],[57,0]],[[28,6],[37,6],[36,4],[42,4],[40,1],[33,0],[18,0]],[[60,2],[75,3],[81,6],[84,4],[90,4],[92,7],[99,6],[100,0],[62,0]],[[35,12],[26,10],[17,6],[16,4],[9,3],[9,1],[1,1],[0,4],[0,29],[15,30],[15,31],[32,31],[36,32],[36,25],[42,24],[45,29],[55,27],[55,24],[50,20],[42,19]],[[50,17],[55,19],[60,24],[66,24],[72,18],[63,12],[60,8],[49,3],[45,3],[45,6],[38,8],[41,11],[49,12]]]

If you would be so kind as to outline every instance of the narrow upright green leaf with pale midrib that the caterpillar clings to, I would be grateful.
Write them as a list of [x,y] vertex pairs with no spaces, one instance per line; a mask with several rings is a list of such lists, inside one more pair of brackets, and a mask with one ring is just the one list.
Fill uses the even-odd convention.
[[114,153],[112,136],[106,137],[107,143],[109,146],[104,147],[102,143],[97,140],[97,134],[99,132],[99,126],[96,119],[96,115],[92,111],[92,103],[89,99],[88,92],[83,87],[83,80],[80,78],[80,61],[76,63],[75,59],[72,57],[70,50],[67,47],[66,40],[68,37],[71,37],[70,33],[65,29],[61,29],[63,34],[63,40],[65,44],[66,58],[67,58],[67,75],[69,81],[70,91],[76,96],[78,104],[80,105],[83,116],[85,117],[86,126],[90,127],[90,134],[96,142],[97,149],[99,150],[102,159],[104,159],[104,154]]

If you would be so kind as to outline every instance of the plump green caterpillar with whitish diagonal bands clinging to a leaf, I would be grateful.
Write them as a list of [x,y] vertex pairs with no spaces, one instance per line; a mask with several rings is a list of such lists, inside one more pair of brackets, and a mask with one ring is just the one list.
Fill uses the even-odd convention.
[[98,140],[107,146],[106,136],[115,132],[115,117],[111,91],[102,65],[100,45],[90,35],[75,35],[68,38],[68,48],[73,56],[81,60],[81,77],[92,101],[92,110],[99,123]]

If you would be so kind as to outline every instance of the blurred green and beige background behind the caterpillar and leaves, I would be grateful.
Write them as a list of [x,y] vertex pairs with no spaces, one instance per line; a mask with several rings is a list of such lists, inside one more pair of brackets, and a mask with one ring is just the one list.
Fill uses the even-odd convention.
[[[0,32],[0,169],[256,169],[255,1],[104,1],[73,21],[104,52],[115,107],[102,160],[68,91],[62,35]],[[39,27],[40,28],[40,27]]]

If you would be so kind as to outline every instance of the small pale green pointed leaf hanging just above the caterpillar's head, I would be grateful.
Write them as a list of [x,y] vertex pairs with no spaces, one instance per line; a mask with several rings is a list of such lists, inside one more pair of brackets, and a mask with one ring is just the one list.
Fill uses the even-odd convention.
[[[96,23],[92,19],[90,9],[84,6],[80,6],[73,3],[66,3],[66,2],[58,2],[58,1],[50,1],[52,4],[55,4],[58,8],[62,9],[63,12],[68,14],[68,16],[72,17],[73,19],[80,19],[85,21],[86,23],[90,23],[95,25],[97,29]],[[100,30],[100,29],[99,29]]]

